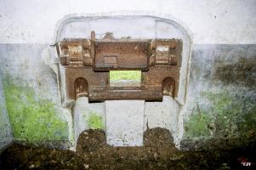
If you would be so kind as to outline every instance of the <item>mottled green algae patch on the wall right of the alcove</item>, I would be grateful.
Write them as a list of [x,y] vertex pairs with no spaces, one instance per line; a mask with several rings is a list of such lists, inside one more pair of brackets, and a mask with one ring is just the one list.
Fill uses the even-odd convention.
[[219,90],[219,93],[203,92],[200,99],[208,101],[208,104],[195,105],[188,121],[185,121],[186,137],[255,135],[256,107],[248,106],[253,103],[250,99],[233,95],[227,90]]

